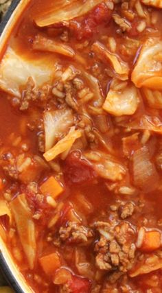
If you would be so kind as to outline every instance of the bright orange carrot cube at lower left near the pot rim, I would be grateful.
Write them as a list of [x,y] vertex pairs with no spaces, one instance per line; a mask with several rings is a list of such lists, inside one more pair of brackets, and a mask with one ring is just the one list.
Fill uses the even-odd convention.
[[54,274],[61,266],[60,255],[57,252],[40,257],[39,262],[45,274],[48,275]]

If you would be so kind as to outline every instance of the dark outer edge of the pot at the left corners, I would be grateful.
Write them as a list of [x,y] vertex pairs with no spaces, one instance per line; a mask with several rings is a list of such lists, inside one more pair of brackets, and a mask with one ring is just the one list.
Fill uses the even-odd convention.
[[[21,0],[13,0],[10,7],[8,8],[8,12],[6,12],[5,16],[3,17],[1,23],[0,23],[0,35],[3,33],[3,30],[5,29],[5,25],[7,25],[10,16],[12,16],[12,13],[16,9],[17,5],[19,4]],[[24,293],[21,289],[21,285],[16,281],[14,278],[14,275],[12,274],[12,271],[10,270],[10,266],[8,266],[8,263],[5,261],[5,257],[3,257],[3,254],[0,251],[0,270],[2,274],[4,275],[5,279],[8,281],[8,283],[11,285],[11,287],[14,289],[16,293]]]

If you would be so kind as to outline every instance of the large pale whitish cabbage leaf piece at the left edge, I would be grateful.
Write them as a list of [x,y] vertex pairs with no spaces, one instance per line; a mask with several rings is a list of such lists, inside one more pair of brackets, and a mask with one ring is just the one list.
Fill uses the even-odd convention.
[[25,86],[28,78],[31,77],[38,87],[50,84],[54,70],[51,56],[39,56],[33,62],[31,58],[20,56],[9,47],[0,63],[0,88],[21,97],[20,89]]

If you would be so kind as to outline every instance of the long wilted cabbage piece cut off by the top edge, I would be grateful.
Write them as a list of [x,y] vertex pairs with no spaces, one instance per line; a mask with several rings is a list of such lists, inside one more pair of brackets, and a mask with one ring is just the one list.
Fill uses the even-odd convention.
[[55,0],[46,5],[43,12],[36,16],[35,21],[39,27],[54,25],[82,16],[93,9],[103,0]]

